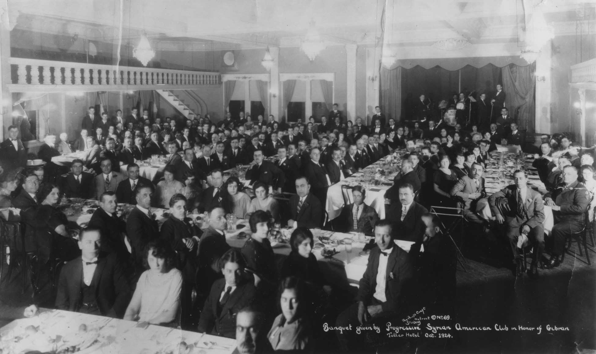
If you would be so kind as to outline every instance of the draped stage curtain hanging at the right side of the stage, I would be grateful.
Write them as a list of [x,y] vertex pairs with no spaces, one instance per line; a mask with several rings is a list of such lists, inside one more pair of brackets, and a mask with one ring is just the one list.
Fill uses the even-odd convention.
[[519,129],[533,132],[535,130],[534,116],[536,110],[534,100],[536,63],[528,66],[509,65],[501,70],[503,89],[507,94],[505,103],[509,114],[514,117]]

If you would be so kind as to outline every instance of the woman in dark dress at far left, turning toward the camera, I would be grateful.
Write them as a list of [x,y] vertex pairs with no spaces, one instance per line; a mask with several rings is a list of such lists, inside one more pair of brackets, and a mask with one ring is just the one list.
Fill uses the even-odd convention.
[[53,183],[42,185],[37,200],[41,201],[41,205],[26,215],[33,216],[33,220],[27,223],[35,226],[39,260],[45,264],[50,255],[64,261],[75,259],[80,254],[79,246],[75,238],[70,236],[66,215],[56,207],[60,200],[60,188]]

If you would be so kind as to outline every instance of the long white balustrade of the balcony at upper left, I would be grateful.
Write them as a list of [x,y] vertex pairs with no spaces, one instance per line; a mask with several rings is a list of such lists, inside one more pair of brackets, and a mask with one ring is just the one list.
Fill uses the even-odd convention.
[[[117,89],[191,89],[193,86],[219,85],[219,72],[153,69],[128,66],[71,63],[26,58],[10,58],[13,72],[11,91],[39,91],[39,87],[53,86],[70,91],[67,86],[106,91]],[[64,86],[64,87],[61,87]],[[126,86],[126,88],[122,88]],[[132,86],[132,87],[131,87]],[[143,87],[145,86],[145,87]],[[75,88],[73,87],[73,88]],[[58,91],[57,90],[57,91]]]

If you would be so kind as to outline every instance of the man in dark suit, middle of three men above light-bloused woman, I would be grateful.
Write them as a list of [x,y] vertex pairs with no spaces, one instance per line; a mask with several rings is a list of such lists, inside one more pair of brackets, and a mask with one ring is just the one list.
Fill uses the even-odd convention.
[[155,214],[151,213],[153,199],[153,185],[136,188],[136,206],[126,219],[126,234],[131,243],[131,260],[135,266],[135,278],[145,271],[143,259],[145,246],[159,237],[159,226]]

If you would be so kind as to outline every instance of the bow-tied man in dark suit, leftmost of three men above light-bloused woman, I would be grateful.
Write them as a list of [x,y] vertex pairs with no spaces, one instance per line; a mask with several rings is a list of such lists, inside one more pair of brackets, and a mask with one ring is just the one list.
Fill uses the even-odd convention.
[[[89,228],[98,229],[101,233],[100,251],[116,253],[123,263],[127,263],[130,253],[126,248],[126,223],[118,218],[116,193],[107,191],[100,196],[100,207],[95,209],[89,221]],[[125,265],[123,265],[125,266]],[[127,268],[125,266],[125,268]]]

